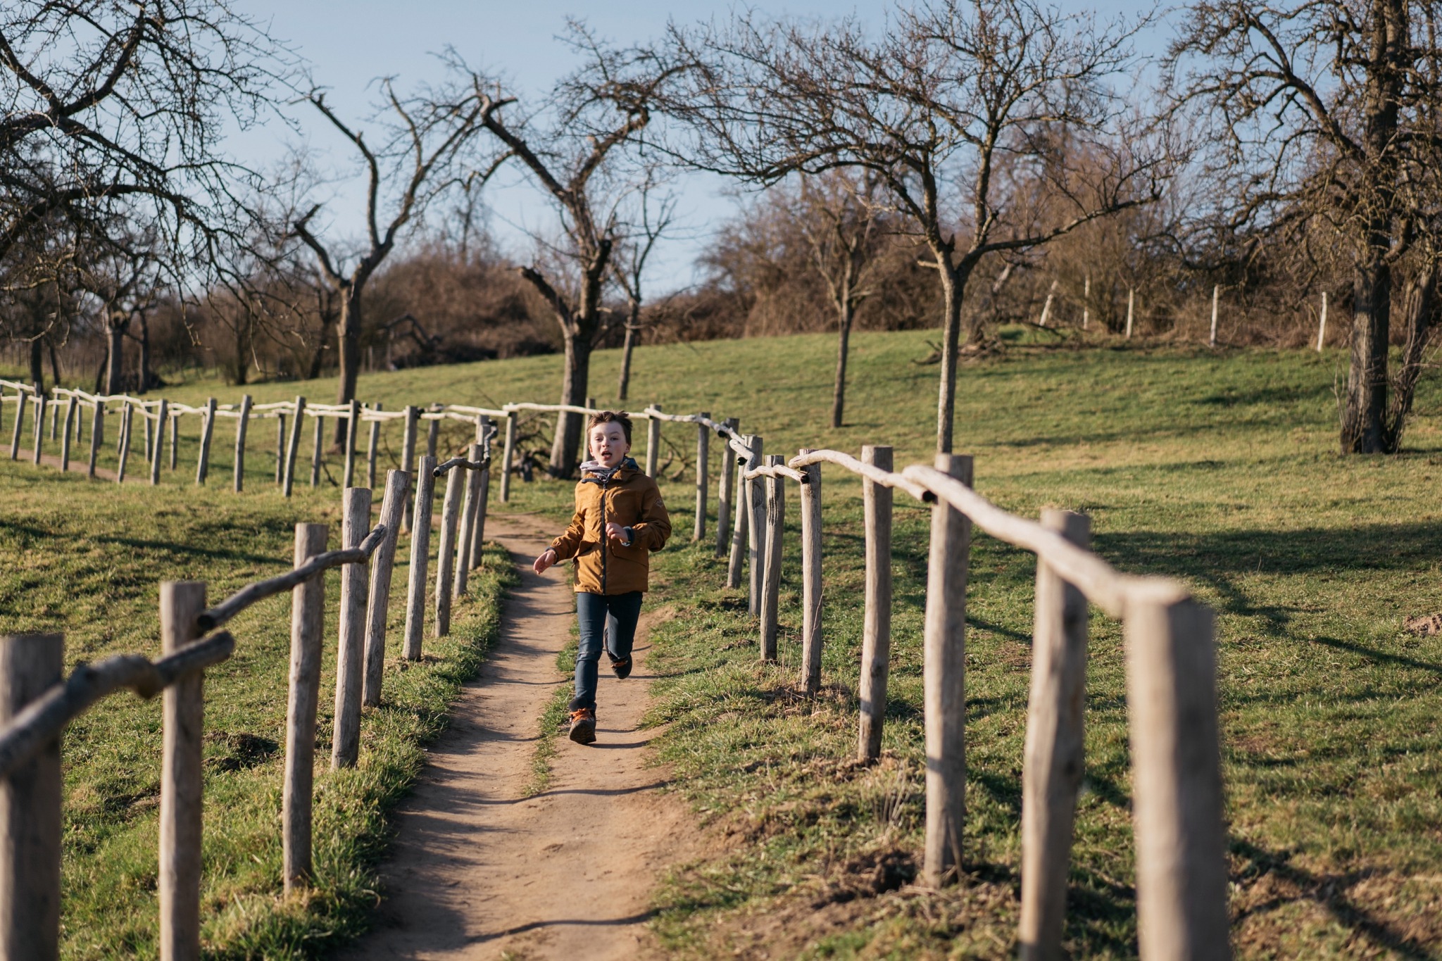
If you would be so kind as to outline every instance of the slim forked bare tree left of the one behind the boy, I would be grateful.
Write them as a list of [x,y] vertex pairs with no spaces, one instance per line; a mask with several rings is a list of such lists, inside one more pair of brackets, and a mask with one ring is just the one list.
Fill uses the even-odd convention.
[[[326,243],[314,229],[322,205],[311,205],[294,220],[296,236],[311,249],[326,285],[337,301],[337,344],[340,386],[337,402],[356,395],[360,376],[360,334],[363,330],[363,294],[366,282],[395,249],[407,225],[421,218],[438,196],[459,186],[463,154],[485,128],[487,120],[506,101],[493,99],[480,89],[480,78],[457,62],[451,68],[459,82],[441,89],[423,89],[401,98],[389,78],[381,82],[382,111],[379,146],[366,143],[363,130],[345,122],[326,102],[323,91],[307,99],[330,125],[360,154],[366,179],[365,239],[353,256]],[[492,158],[476,177],[485,183],[505,161]],[[389,195],[386,197],[385,195]],[[382,207],[388,210],[382,210]],[[336,421],[335,442],[345,442],[346,425]]]

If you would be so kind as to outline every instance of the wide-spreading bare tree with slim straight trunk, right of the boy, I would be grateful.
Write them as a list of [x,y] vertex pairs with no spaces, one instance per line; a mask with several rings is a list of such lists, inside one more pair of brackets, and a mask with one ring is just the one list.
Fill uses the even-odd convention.
[[[981,259],[1146,203],[1169,171],[1109,88],[1133,63],[1131,36],[1030,0],[895,7],[875,40],[855,20],[748,13],[672,29],[669,55],[689,69],[665,108],[694,131],[675,153],[698,167],[758,183],[861,167],[885,184],[942,288],[936,444],[949,451],[962,303]],[[1071,163],[1080,147],[1109,163]],[[1067,205],[1030,207],[1015,179],[1044,180]]]

